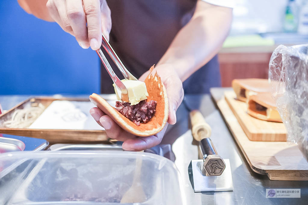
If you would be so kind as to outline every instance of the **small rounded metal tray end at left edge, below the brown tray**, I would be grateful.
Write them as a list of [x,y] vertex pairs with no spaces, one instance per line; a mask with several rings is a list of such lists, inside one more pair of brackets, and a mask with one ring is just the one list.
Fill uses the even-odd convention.
[[4,152],[23,151],[26,145],[20,140],[0,137],[0,154]]

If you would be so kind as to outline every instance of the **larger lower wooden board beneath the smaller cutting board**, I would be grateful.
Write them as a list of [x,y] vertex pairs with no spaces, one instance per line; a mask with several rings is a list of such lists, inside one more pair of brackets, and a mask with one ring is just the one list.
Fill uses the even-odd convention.
[[308,163],[296,145],[249,140],[225,98],[216,103],[253,171],[271,180],[308,181]]

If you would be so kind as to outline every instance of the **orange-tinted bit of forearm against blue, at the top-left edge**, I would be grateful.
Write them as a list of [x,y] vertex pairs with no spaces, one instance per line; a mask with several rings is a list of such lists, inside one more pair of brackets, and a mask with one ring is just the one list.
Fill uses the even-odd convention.
[[47,1],[48,0],[18,0],[18,3],[28,14],[33,14],[37,18],[45,21],[54,22],[47,10]]

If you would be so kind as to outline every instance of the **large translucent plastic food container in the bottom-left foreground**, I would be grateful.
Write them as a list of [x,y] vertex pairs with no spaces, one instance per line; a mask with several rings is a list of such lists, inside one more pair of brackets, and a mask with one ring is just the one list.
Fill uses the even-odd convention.
[[[2,168],[14,164],[6,175],[0,172],[0,204],[120,204],[136,180],[140,187],[130,193],[138,199],[143,192],[145,197],[124,204],[180,205],[184,201],[175,164],[151,153],[41,151],[0,155]],[[136,175],[138,169],[140,174]]]

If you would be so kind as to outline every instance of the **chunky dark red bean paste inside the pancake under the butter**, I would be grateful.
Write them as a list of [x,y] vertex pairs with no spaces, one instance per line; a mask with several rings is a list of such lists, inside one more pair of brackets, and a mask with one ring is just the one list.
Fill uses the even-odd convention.
[[149,102],[143,100],[136,105],[116,101],[115,109],[139,126],[140,123],[146,123],[152,118],[156,112],[156,104],[157,102],[153,100]]

